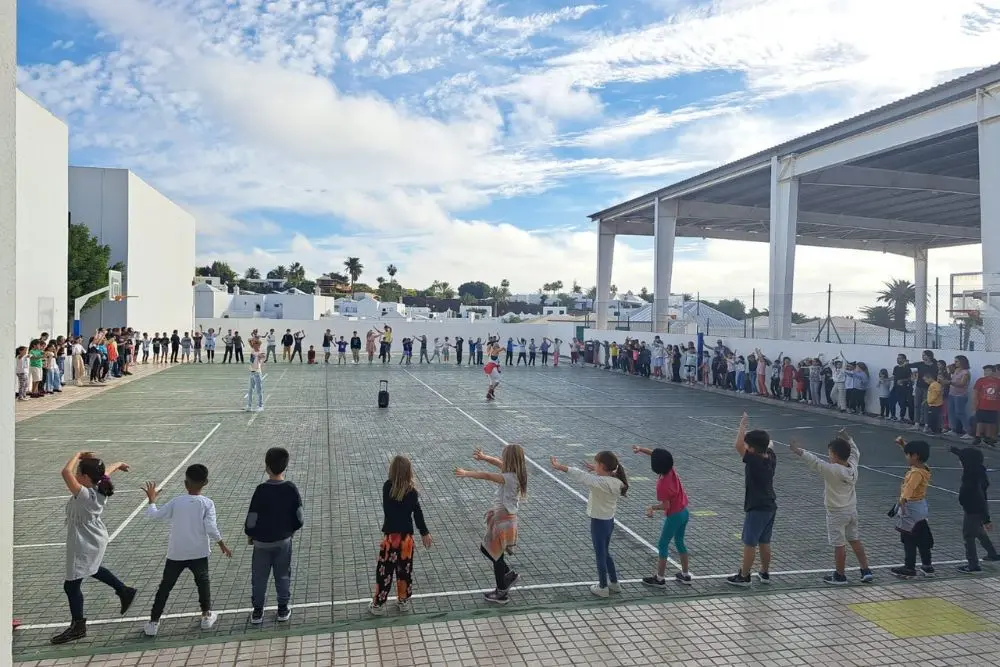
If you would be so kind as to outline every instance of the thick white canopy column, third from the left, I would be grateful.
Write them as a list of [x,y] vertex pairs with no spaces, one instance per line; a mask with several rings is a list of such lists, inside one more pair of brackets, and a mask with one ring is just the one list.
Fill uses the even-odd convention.
[[771,263],[768,285],[768,336],[792,335],[792,287],[795,282],[795,233],[799,216],[799,179],[792,178],[793,158],[771,158]]

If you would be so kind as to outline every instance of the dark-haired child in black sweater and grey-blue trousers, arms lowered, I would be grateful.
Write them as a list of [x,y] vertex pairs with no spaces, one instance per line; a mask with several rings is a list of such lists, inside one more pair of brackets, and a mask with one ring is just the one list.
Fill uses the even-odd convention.
[[272,447],[264,455],[267,481],[259,484],[250,499],[244,532],[253,544],[250,562],[250,622],[264,622],[264,597],[267,580],[274,574],[278,595],[278,622],[292,616],[288,606],[292,596],[292,536],[303,526],[302,496],[295,485],[285,480],[288,450]]

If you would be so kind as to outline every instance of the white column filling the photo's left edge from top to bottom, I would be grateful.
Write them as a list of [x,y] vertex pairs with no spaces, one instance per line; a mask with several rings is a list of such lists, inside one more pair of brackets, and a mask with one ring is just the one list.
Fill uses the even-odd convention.
[[[17,2],[0,0],[0,347],[13,350],[14,336],[14,251],[17,223],[16,163],[14,160],[14,75],[17,63]],[[0,356],[0,375],[10,378],[14,360]],[[0,392],[0,665],[11,658],[11,626],[14,598],[14,396]]]

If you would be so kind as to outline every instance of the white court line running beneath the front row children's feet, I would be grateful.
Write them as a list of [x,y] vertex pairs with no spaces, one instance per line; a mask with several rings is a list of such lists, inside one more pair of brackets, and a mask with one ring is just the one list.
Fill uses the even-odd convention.
[[[938,563],[935,563],[935,565],[959,565],[959,564],[963,564],[963,563],[965,563],[964,560],[947,560],[947,561],[940,561]],[[899,567],[899,565],[900,564],[895,564],[895,565],[873,565],[871,569],[873,569],[873,570],[887,570],[889,568]],[[772,577],[781,577],[781,576],[794,576],[794,575],[805,575],[805,574],[828,574],[831,571],[832,571],[832,568],[829,568],[829,567],[818,569],[818,570],[787,570],[787,571],[771,572],[771,576]],[[721,573],[721,574],[692,575],[692,578],[696,579],[696,580],[715,580],[715,579],[726,579],[726,578],[731,577],[731,576],[732,576],[732,573],[726,572],[726,573]],[[667,579],[667,582],[670,583],[671,580]],[[560,582],[560,583],[553,583],[553,584],[529,584],[529,585],[526,585],[526,586],[516,586],[513,590],[522,590],[522,591],[532,591],[533,590],[533,591],[540,591],[540,590],[555,590],[555,589],[560,589],[560,588],[582,588],[583,586],[591,586],[591,585],[593,585],[593,583],[594,583],[593,581],[567,581],[567,582]],[[621,583],[621,584],[641,584],[642,583],[642,579],[620,579],[618,583]],[[678,585],[678,586],[680,586],[680,585]],[[852,589],[858,589],[858,588],[861,588],[862,586],[863,585],[858,584],[858,585],[855,585],[855,586],[851,586],[850,588],[852,588]],[[439,592],[435,592],[435,593],[415,593],[414,595],[412,595],[410,597],[411,597],[411,599],[414,599],[414,600],[428,600],[428,599],[434,599],[434,598],[447,598],[447,597],[464,597],[464,596],[467,596],[467,595],[478,595],[478,594],[482,594],[482,593],[488,593],[488,592],[490,592],[492,590],[493,590],[492,588],[470,588],[470,589],[466,589],[466,590],[439,591]],[[669,589],[667,589],[667,590],[669,590]],[[768,590],[768,587],[767,586],[757,586],[755,590]],[[780,592],[780,593],[799,593],[799,592],[803,592],[801,589],[790,590],[790,589],[783,589],[783,588],[775,588],[773,590],[775,590],[776,592]],[[669,599],[683,600],[683,599],[685,599],[684,597],[671,598],[668,595],[664,595],[662,597],[665,600],[669,600]],[[396,599],[395,597],[390,598],[390,600],[395,600],[395,599]],[[636,598],[636,600],[638,600],[638,599],[639,598]],[[594,600],[596,601],[597,598],[594,598]],[[292,604],[292,605],[289,605],[289,606],[292,609],[316,609],[316,608],[324,608],[324,607],[346,607],[346,606],[358,605],[358,604],[368,604],[370,602],[371,602],[371,598],[370,597],[366,597],[366,598],[354,598],[354,599],[350,599],[350,600],[328,600],[328,601],[324,601],[324,602],[304,602],[302,604]],[[270,607],[265,607],[264,608],[265,611],[275,611],[276,609],[277,609],[276,606],[270,606]],[[233,614],[249,614],[251,611],[252,611],[252,609],[250,607],[241,607],[241,608],[234,608],[234,609],[220,609],[220,610],[217,610],[215,613],[218,614],[219,616],[231,616]],[[162,617],[162,620],[176,619],[176,618],[200,618],[200,617],[201,617],[201,612],[195,611],[195,612],[184,612],[184,613],[179,613],[179,614],[164,614],[163,617]],[[128,617],[128,618],[100,618],[100,619],[94,619],[94,620],[89,620],[88,619],[87,620],[87,625],[121,625],[121,624],[124,624],[124,623],[137,623],[138,624],[138,623],[145,623],[148,620],[149,620],[148,616],[132,616],[132,617]],[[63,623],[29,623],[27,625],[22,625],[19,630],[21,630],[21,631],[23,631],[23,630],[56,630],[56,629],[65,628],[65,627],[66,627],[66,623],[65,622],[63,622]]]

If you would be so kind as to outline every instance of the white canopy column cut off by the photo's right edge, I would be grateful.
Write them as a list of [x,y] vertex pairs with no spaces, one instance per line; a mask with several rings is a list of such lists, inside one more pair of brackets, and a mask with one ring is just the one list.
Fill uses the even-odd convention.
[[986,351],[1000,350],[1000,86],[979,93],[979,211]]

